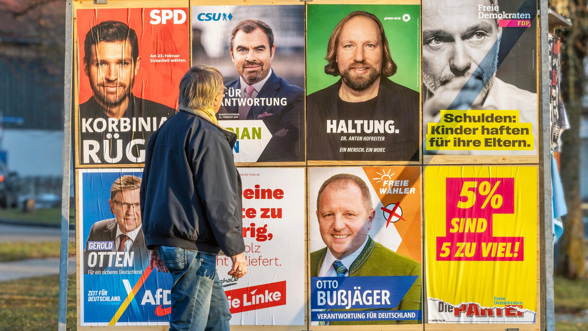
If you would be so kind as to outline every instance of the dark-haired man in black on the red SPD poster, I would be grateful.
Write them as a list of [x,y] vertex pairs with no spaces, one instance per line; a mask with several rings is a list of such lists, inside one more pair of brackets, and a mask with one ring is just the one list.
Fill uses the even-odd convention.
[[143,163],[152,132],[176,111],[132,94],[141,68],[135,30],[101,22],[86,34],[84,52],[83,71],[94,94],[79,105],[81,162]]

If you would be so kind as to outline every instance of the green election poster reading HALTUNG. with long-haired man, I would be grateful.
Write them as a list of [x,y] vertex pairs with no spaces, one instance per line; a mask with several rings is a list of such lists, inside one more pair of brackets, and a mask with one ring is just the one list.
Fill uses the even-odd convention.
[[309,3],[307,18],[309,164],[419,161],[420,5]]

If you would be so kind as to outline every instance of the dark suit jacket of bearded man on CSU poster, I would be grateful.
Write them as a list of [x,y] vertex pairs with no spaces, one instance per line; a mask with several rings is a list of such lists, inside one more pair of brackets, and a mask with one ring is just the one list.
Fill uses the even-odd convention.
[[[225,84],[228,88],[240,89],[240,80]],[[256,98],[286,98],[286,105],[253,105],[247,120],[260,119],[268,127],[272,138],[259,156],[258,162],[304,161],[304,90],[296,85],[272,74],[265,82]],[[239,114],[238,105],[228,105],[224,111],[229,114]],[[268,113],[266,116],[259,117]],[[219,117],[222,120],[222,117]],[[275,134],[282,128],[288,129],[285,137]]]

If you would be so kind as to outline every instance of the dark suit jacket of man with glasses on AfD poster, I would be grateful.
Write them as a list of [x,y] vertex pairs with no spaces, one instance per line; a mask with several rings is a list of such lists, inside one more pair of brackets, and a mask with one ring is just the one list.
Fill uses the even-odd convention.
[[[88,241],[115,241],[116,239],[116,227],[118,223],[116,223],[116,219],[108,219],[98,221],[93,224],[92,229],[90,229],[90,234],[88,235],[88,240],[86,241],[86,247],[83,250],[83,272],[88,273],[88,270],[104,270],[108,267],[108,256],[104,256],[103,266],[100,267],[100,257],[98,257],[98,263],[94,267],[88,267],[88,257],[92,251],[99,252],[99,251],[116,251],[118,247],[113,246],[112,250],[88,250]],[[135,241],[133,241],[133,246],[129,250],[129,253],[133,252],[133,267],[132,269],[141,270],[145,269],[147,263],[149,262],[149,252],[145,245],[145,237],[143,236],[143,231],[139,231],[137,236],[135,237]]]

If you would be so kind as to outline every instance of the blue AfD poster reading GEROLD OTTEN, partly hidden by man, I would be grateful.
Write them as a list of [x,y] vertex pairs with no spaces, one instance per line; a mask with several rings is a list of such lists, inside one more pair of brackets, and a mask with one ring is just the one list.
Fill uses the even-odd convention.
[[81,326],[169,324],[172,277],[149,269],[142,174],[138,168],[78,170]]

